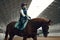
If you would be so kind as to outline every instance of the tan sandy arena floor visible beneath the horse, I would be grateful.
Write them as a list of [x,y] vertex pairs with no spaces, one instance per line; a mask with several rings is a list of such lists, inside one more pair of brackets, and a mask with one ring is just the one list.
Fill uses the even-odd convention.
[[[22,37],[14,37],[13,40],[23,40]],[[32,38],[28,38],[27,40],[33,40]],[[60,37],[38,37],[37,40],[60,40]]]

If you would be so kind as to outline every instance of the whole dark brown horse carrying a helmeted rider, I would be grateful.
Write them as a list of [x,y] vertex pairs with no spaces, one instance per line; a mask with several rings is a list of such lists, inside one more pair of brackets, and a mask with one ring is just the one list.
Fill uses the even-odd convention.
[[7,25],[4,40],[8,39],[8,35],[10,36],[8,40],[13,40],[15,35],[23,37],[23,40],[26,40],[27,38],[37,40],[37,29],[40,27],[42,27],[43,36],[47,37],[49,25],[51,24],[51,20],[47,18],[34,18],[29,20],[26,28],[20,31],[14,27],[16,22],[17,21],[13,21]]

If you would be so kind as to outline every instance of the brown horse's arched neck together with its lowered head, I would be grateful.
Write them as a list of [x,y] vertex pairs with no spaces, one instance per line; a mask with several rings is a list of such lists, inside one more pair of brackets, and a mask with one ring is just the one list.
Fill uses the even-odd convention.
[[47,37],[48,35],[48,30],[49,30],[49,25],[51,24],[51,20],[47,18],[35,18],[33,19],[34,21],[34,26],[35,28],[40,28],[42,27],[43,35],[44,37]]

